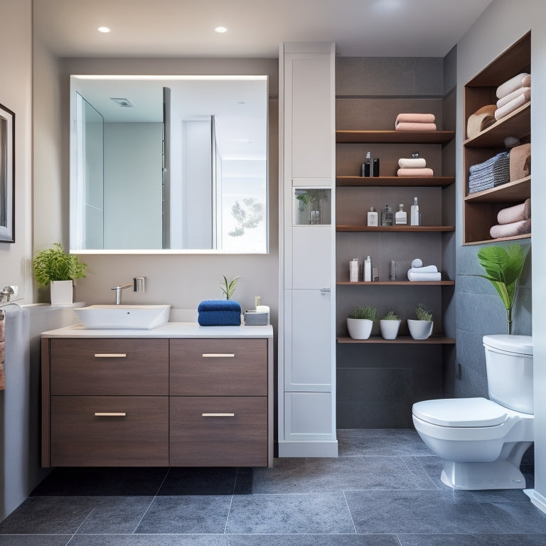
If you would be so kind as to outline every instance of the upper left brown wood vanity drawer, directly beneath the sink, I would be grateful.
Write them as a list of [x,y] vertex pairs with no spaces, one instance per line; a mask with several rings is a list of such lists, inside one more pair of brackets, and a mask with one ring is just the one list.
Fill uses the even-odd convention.
[[52,395],[168,395],[168,339],[51,339]]

